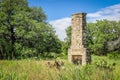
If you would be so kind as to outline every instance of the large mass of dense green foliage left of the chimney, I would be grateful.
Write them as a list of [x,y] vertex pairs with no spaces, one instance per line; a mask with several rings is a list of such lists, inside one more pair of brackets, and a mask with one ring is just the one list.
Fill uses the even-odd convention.
[[0,3],[0,59],[60,53],[61,42],[40,7],[29,7],[27,0]]

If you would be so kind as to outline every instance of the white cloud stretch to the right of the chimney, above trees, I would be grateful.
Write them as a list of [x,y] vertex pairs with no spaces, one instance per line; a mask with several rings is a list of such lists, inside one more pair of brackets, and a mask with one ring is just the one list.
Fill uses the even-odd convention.
[[87,15],[88,22],[95,22],[96,20],[102,20],[102,19],[119,21],[120,20],[120,4],[109,6],[101,9],[100,11],[97,11],[95,13],[89,13]]

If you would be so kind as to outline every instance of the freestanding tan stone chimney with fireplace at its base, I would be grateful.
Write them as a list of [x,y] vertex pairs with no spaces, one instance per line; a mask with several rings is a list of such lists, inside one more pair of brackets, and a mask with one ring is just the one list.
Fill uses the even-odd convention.
[[86,13],[72,15],[71,46],[68,50],[68,60],[74,64],[86,65],[91,62],[91,56],[86,46]]

